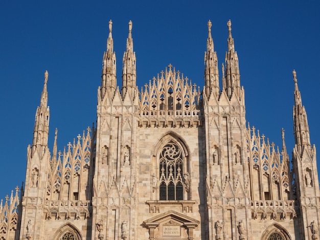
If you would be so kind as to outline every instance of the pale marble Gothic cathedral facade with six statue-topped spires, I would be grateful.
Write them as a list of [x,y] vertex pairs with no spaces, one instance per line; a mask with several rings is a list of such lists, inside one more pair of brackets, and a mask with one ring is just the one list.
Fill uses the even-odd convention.
[[[27,150],[25,186],[1,202],[0,239],[318,239],[316,150],[293,70],[292,164],[246,123],[231,21],[219,84],[208,22],[204,87],[170,64],[136,86],[132,22],[117,85],[112,22],[97,124],[48,147],[48,71]],[[199,73],[200,74],[200,73]]]

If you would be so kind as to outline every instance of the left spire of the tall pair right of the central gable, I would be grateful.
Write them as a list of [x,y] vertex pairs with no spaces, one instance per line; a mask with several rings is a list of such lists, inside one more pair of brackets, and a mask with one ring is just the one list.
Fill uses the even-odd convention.
[[213,39],[211,36],[212,23],[208,21],[208,39],[207,52],[204,53],[204,80],[205,80],[205,94],[209,97],[214,93],[219,96],[219,71],[218,71],[218,57],[214,51]]

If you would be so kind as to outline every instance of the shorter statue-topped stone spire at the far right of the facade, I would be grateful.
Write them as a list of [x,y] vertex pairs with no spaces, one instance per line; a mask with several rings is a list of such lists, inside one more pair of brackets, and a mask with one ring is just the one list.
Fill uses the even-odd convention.
[[298,88],[296,71],[292,71],[294,81],[293,131],[295,144],[301,154],[305,146],[311,146],[309,125],[305,107],[302,105],[301,93]]

